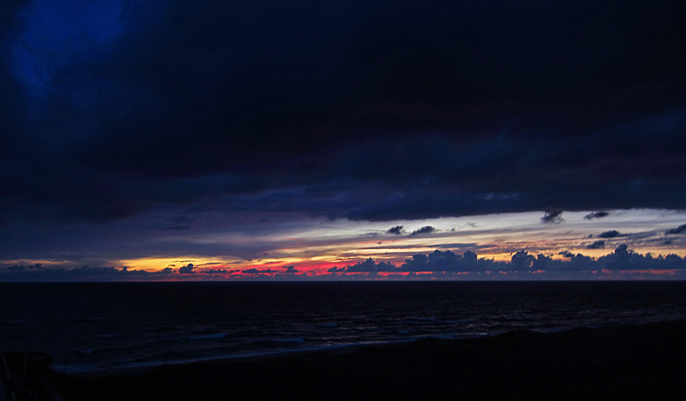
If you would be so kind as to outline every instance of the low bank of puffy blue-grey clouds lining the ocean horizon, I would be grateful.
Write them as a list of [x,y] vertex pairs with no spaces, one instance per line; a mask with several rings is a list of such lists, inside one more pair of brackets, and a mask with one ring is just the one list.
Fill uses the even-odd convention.
[[[601,244],[603,243],[602,246]],[[597,244],[597,245],[596,245]],[[604,241],[596,241],[587,248],[602,248]],[[436,250],[428,255],[417,253],[412,258],[405,260],[396,266],[392,262],[375,262],[368,258],[363,262],[345,267],[330,267],[324,274],[313,272],[301,272],[295,266],[284,266],[281,269],[257,269],[255,267],[243,270],[225,269],[197,269],[192,264],[180,267],[178,270],[167,267],[158,272],[145,270],[129,270],[126,267],[77,267],[75,269],[49,269],[36,265],[14,265],[0,270],[0,282],[20,281],[155,281],[178,279],[216,279],[221,276],[253,276],[270,277],[273,279],[293,279],[295,277],[307,277],[316,279],[317,276],[325,277],[346,274],[456,274],[470,272],[612,272],[612,271],[639,271],[639,272],[673,272],[675,270],[686,271],[686,259],[679,255],[659,255],[657,257],[647,253],[636,253],[622,244],[608,255],[594,259],[582,253],[570,251],[559,252],[561,259],[553,259],[551,255],[539,253],[534,255],[522,250],[512,255],[509,262],[496,262],[493,259],[479,258],[475,252],[465,251],[463,254],[452,251]],[[224,277],[226,278],[226,277]]]

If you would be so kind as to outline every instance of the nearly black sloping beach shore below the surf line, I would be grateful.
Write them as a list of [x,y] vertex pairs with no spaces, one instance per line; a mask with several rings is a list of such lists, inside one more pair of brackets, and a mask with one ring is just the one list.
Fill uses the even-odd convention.
[[66,400],[88,401],[685,399],[686,321],[48,376]]

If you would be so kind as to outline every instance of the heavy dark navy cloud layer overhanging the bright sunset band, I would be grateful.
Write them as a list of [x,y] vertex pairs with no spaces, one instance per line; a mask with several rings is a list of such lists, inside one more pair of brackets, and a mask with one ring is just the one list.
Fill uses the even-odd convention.
[[3,202],[97,221],[306,185],[253,207],[685,206],[681,2],[140,7],[3,11]]

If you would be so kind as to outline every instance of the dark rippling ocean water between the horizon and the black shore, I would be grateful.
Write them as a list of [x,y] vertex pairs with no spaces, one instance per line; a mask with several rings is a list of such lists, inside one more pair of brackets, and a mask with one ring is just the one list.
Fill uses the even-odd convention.
[[0,284],[0,351],[64,372],[675,319],[686,282]]

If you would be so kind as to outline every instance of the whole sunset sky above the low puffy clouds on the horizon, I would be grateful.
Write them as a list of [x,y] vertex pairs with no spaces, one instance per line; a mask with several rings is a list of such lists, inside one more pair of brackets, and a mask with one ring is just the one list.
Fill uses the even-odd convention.
[[[683,15],[683,1],[3,1],[0,266],[412,255],[360,245],[386,239],[598,258],[615,244],[586,241],[609,230],[683,256],[667,233],[686,223]],[[563,220],[543,223],[551,206]]]

